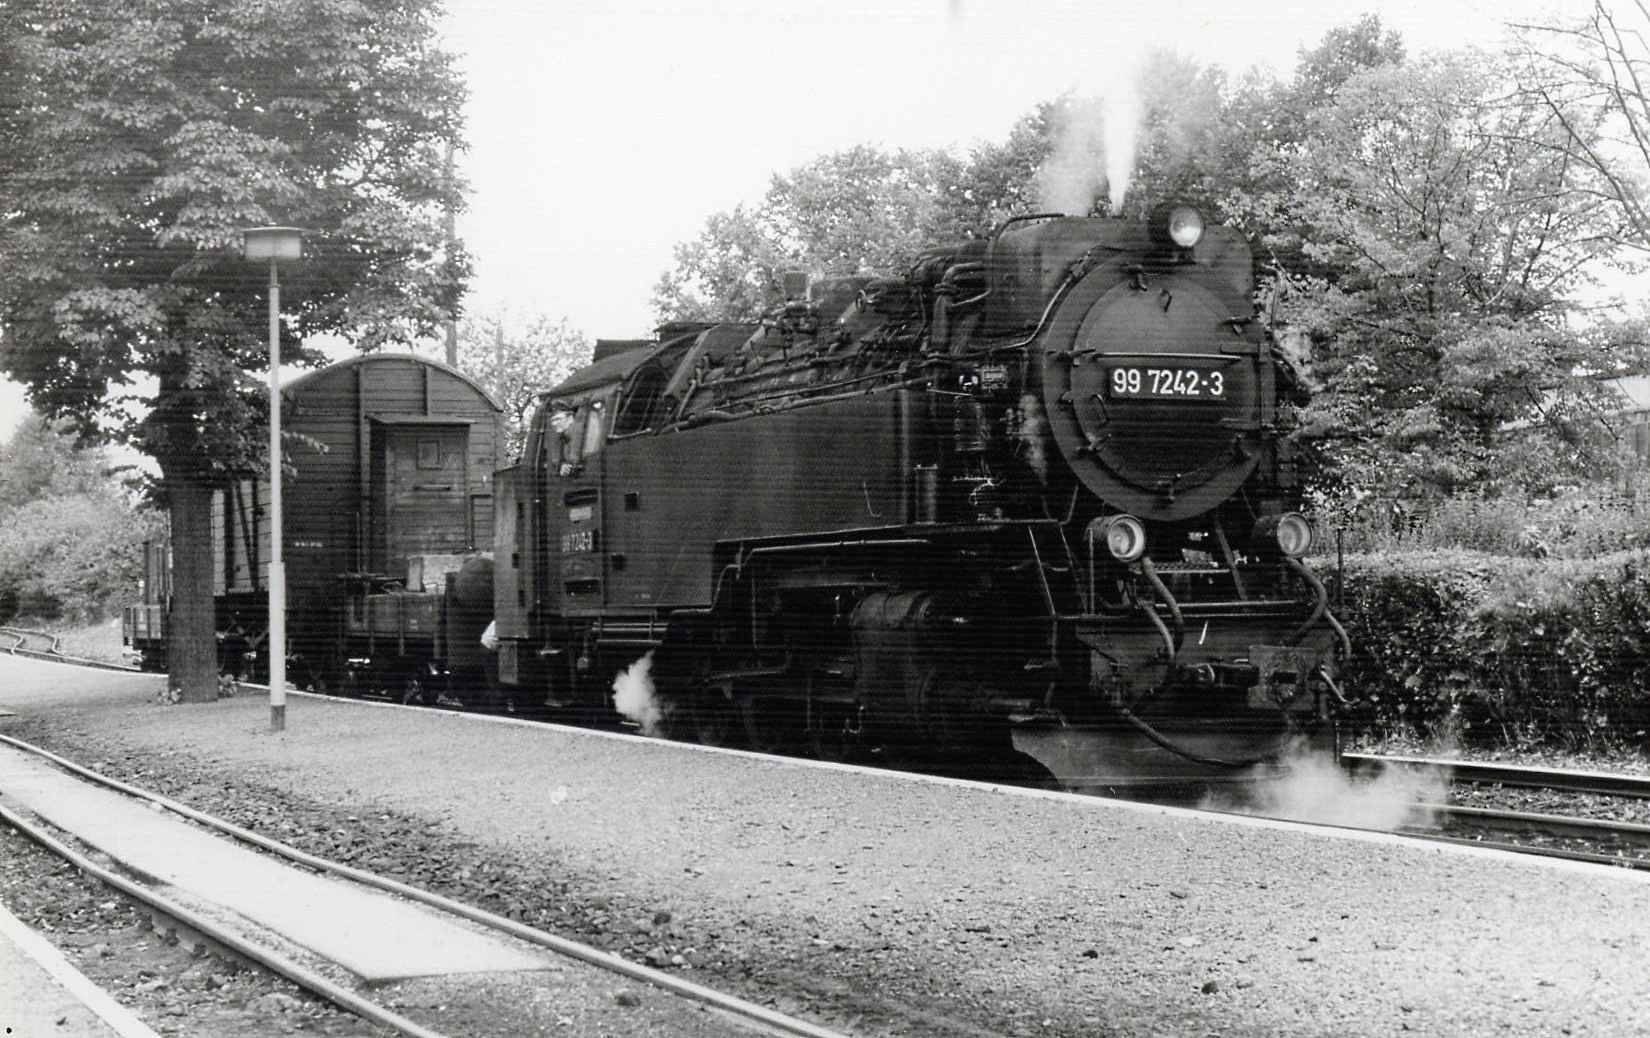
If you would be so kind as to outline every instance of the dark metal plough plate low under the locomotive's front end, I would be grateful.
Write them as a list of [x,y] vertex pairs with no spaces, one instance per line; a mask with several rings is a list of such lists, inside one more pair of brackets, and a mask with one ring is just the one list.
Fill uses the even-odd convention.
[[[1223,761],[1269,757],[1297,753],[1333,753],[1328,726],[1317,733],[1287,731],[1275,723],[1254,721],[1165,723],[1162,734],[1191,756]],[[1247,782],[1256,767],[1219,767],[1172,753],[1129,724],[1026,724],[1011,733],[1016,751],[1053,776],[1061,789],[1102,792],[1109,789]]]

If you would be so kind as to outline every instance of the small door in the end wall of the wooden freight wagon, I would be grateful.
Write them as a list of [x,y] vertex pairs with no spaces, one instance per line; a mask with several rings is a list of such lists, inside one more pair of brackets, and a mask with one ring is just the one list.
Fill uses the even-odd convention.
[[399,576],[409,556],[470,548],[469,446],[467,422],[373,422],[373,573]]

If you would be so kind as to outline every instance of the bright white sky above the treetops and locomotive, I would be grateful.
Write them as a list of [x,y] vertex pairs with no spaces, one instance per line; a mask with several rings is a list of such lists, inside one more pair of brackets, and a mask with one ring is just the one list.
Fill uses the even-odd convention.
[[[1493,45],[1586,0],[447,0],[470,86],[467,305],[645,335],[672,246],[776,172],[870,142],[1006,135],[1061,91],[1104,92],[1152,46],[1287,76],[1374,10],[1411,51]],[[21,414],[0,381],[0,437]]]

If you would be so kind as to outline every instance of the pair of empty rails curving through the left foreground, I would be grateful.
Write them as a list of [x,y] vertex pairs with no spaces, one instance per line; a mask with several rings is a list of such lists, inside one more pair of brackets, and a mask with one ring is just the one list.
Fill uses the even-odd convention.
[[[700,984],[683,980],[681,977],[667,974],[663,970],[650,969],[647,965],[630,962],[620,955],[614,955],[602,949],[559,937],[546,931],[540,931],[521,922],[515,922],[503,916],[497,916],[485,909],[444,898],[414,886],[408,886],[396,880],[388,880],[375,873],[342,865],[310,855],[307,852],[297,850],[279,840],[271,840],[243,827],[233,825],[205,812],[195,810],[183,804],[178,804],[168,797],[139,789],[135,786],[111,779],[107,776],[97,774],[87,767],[82,767],[73,761],[68,761],[58,754],[46,749],[0,734],[0,744],[20,749],[26,754],[33,754],[43,761],[50,761],[56,767],[82,782],[94,784],[104,789],[120,792],[127,797],[135,797],[153,807],[163,809],[167,812],[177,814],[188,819],[214,833],[229,837],[236,842],[251,845],[264,853],[274,855],[280,860],[290,861],[294,865],[304,866],[307,870],[325,873],[338,880],[345,880],[355,885],[373,888],[378,891],[386,891],[404,898],[408,901],[416,901],[426,908],[436,909],[437,913],[446,913],[469,924],[480,926],[483,931],[492,931],[497,934],[505,934],[516,941],[525,941],[528,944],[548,949],[563,959],[571,959],[581,962],[587,967],[602,970],[614,977],[620,977],[632,982],[640,982],[652,985],[662,992],[667,992],[676,998],[708,1007],[724,1018],[729,1020],[738,1030],[754,1035],[772,1035],[784,1038],[842,1038],[838,1031],[832,1031],[820,1025],[807,1020],[789,1017],[785,1013],[746,1002],[742,998],[716,992]],[[144,881],[140,875],[127,875],[120,863],[116,861],[114,866],[104,865],[92,855],[87,855],[71,845],[69,838],[56,833],[50,823],[43,823],[38,819],[26,817],[21,812],[13,810],[8,805],[0,805],[0,820],[18,832],[28,835],[38,845],[56,853],[63,860],[73,863],[84,875],[94,876],[96,880],[106,883],[107,886],[127,894],[129,898],[142,903],[157,919],[157,929],[175,932],[180,941],[200,944],[206,949],[228,951],[231,957],[238,957],[246,962],[254,962],[269,969],[271,972],[285,977],[297,987],[310,992],[312,995],[323,998],[346,1012],[351,1012],[363,1020],[376,1023],[380,1026],[389,1028],[394,1033],[408,1035],[412,1038],[444,1038],[442,1031],[431,1028],[426,1023],[412,1020],[396,1010],[383,1005],[370,997],[371,988],[360,988],[351,984],[338,982],[323,972],[305,965],[292,957],[274,951],[267,939],[261,939],[254,929],[243,929],[229,921],[233,913],[203,913],[185,906],[183,903],[168,898],[160,893],[155,886]],[[73,837],[73,833],[66,833]]]

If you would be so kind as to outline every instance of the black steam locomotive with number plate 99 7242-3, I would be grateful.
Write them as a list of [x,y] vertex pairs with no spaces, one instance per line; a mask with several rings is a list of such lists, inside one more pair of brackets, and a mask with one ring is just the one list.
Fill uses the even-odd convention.
[[1333,744],[1346,635],[1252,277],[1190,208],[1023,216],[601,343],[497,480],[500,682],[647,670],[672,733],[1076,787]]

